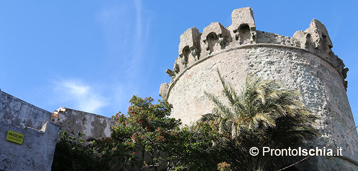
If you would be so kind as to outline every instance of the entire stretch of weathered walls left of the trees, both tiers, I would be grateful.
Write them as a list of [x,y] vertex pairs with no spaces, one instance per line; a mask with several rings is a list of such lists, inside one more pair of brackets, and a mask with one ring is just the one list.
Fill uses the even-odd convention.
[[[56,115],[0,90],[0,170],[51,170],[61,128],[84,139],[110,136],[108,117],[66,109]],[[8,131],[24,134],[23,144],[6,140]]]

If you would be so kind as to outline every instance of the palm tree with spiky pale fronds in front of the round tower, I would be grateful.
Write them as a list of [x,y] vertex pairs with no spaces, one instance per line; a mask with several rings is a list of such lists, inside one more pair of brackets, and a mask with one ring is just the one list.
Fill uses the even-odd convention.
[[251,156],[251,147],[295,148],[319,135],[313,127],[318,117],[304,107],[298,91],[285,89],[276,80],[255,77],[247,77],[236,90],[217,72],[227,101],[205,92],[216,107],[201,120],[218,125],[220,137],[214,144],[227,150],[233,166],[263,170],[275,157]]

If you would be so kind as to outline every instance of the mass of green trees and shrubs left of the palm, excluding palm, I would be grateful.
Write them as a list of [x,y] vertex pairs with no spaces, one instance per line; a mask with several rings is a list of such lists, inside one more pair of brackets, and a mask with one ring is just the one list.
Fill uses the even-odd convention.
[[133,96],[127,114],[112,116],[111,137],[85,142],[61,134],[53,170],[215,170],[221,151],[213,121],[180,127],[166,101]]

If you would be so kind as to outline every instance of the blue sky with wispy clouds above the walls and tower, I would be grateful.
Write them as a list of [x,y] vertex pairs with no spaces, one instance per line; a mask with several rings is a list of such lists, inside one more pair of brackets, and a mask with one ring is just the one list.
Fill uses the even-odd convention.
[[313,18],[326,26],[349,68],[357,125],[356,1],[2,1],[0,88],[51,112],[126,113],[132,95],[160,99],[184,31],[230,26],[231,12],[243,7],[253,9],[260,31],[292,37]]

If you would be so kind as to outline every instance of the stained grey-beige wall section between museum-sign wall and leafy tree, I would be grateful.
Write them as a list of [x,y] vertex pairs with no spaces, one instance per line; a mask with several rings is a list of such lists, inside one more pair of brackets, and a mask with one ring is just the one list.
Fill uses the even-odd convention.
[[84,133],[82,138],[86,140],[109,137],[110,128],[114,125],[114,121],[109,117],[68,108],[58,114],[54,123],[61,125],[62,130],[69,133]]

